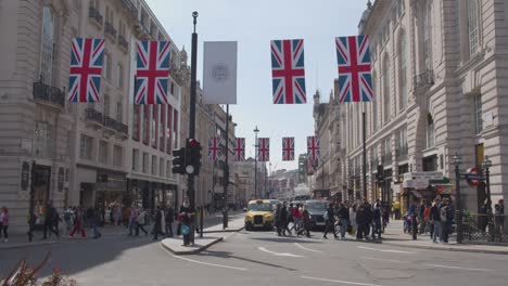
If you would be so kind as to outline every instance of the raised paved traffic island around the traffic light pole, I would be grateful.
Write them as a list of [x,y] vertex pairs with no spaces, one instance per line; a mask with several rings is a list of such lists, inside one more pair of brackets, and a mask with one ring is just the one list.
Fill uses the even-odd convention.
[[244,220],[243,213],[237,213],[229,217],[228,229],[223,230],[223,223],[208,226],[203,230],[203,237],[200,234],[195,234],[193,246],[182,246],[183,239],[179,237],[165,238],[161,242],[161,245],[169,252],[182,256],[182,255],[195,255],[208,247],[224,240],[225,233],[233,233],[243,230]]

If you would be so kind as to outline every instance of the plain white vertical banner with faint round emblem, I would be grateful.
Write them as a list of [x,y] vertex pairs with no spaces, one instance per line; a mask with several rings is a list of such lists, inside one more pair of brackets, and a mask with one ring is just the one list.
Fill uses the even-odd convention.
[[203,103],[237,104],[237,42],[204,42]]

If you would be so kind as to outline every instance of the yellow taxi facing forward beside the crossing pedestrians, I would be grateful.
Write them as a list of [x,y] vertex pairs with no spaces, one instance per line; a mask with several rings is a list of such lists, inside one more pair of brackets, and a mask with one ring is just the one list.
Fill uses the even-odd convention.
[[256,199],[249,202],[245,213],[245,230],[274,229],[274,212],[269,199]]

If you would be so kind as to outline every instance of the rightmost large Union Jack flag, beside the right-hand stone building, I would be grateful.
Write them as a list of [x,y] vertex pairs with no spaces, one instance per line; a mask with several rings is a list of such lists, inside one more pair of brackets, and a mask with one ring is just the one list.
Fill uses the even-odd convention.
[[339,102],[373,100],[367,36],[335,38],[339,64]]

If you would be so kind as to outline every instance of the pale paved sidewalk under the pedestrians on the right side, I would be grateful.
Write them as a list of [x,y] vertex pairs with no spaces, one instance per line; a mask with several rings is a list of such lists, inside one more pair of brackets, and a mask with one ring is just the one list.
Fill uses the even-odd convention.
[[507,246],[457,244],[455,235],[449,237],[448,244],[434,244],[429,234],[418,234],[417,239],[414,240],[410,234],[404,233],[403,221],[401,220],[390,220],[384,230],[383,244],[433,250],[508,255]]

